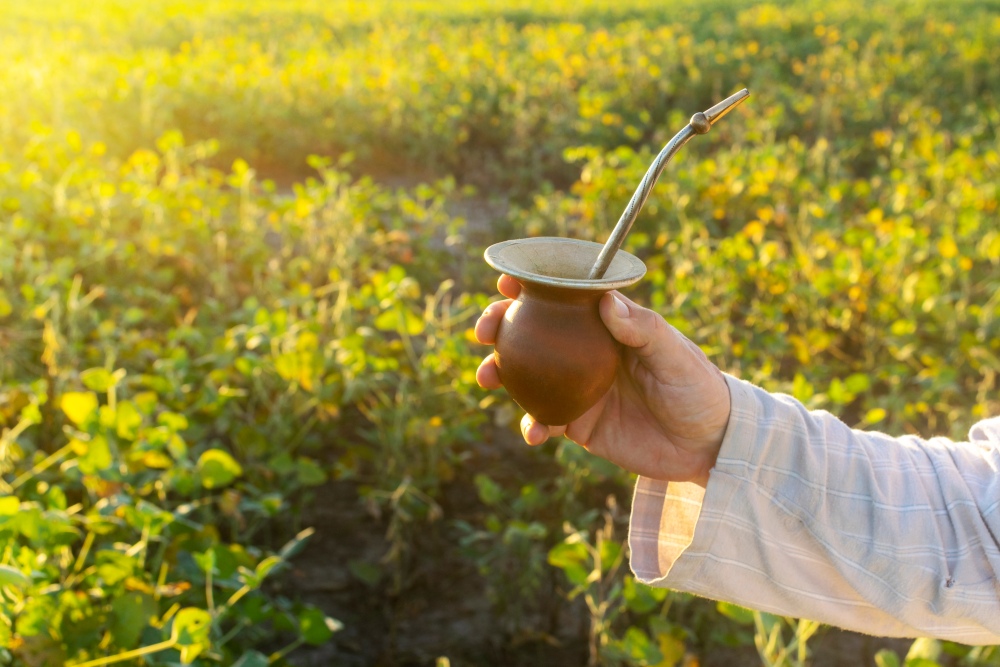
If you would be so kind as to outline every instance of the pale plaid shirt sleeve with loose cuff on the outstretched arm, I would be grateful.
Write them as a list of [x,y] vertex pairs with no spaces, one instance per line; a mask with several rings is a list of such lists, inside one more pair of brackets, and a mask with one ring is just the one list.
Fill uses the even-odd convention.
[[970,442],[892,438],[726,381],[707,488],[636,484],[641,581],[867,634],[1000,644],[1000,419]]

